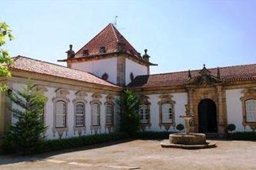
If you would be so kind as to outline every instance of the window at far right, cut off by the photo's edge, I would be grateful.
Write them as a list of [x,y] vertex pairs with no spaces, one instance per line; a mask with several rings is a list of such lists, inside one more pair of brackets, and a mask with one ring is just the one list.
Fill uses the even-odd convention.
[[246,122],[256,122],[256,99],[245,101]]

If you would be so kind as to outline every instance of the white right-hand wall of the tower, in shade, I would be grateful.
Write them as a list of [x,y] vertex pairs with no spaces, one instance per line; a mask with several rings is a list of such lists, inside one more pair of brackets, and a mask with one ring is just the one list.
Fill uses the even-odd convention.
[[131,82],[130,74],[133,73],[134,78],[138,75],[147,75],[147,66],[143,66],[129,59],[125,59],[125,85]]

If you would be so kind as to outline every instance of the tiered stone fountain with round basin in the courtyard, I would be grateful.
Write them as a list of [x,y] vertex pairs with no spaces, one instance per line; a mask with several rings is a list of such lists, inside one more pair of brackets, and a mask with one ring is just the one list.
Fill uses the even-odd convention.
[[214,148],[215,143],[207,143],[205,134],[191,133],[190,124],[193,115],[189,113],[189,104],[185,104],[185,115],[180,116],[185,121],[185,133],[170,134],[169,140],[161,142],[163,148],[184,148],[184,149],[202,149]]

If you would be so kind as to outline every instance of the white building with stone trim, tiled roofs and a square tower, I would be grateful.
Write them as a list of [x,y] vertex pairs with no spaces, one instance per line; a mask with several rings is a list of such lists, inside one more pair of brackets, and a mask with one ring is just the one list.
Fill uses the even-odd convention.
[[[141,131],[177,131],[184,104],[195,116],[193,131],[223,136],[228,124],[236,131],[256,129],[256,64],[175,73],[150,74],[147,50],[141,56],[109,24],[76,53],[67,51],[67,67],[17,56],[12,78],[2,82],[18,90],[28,78],[47,96],[44,124],[48,139],[108,133],[116,130],[116,99],[134,90],[141,99]],[[15,122],[1,93],[0,134]]]

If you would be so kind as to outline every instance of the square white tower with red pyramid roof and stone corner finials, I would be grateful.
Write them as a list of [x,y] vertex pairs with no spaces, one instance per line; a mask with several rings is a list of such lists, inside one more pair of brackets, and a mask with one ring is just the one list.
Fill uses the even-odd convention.
[[67,52],[67,66],[95,74],[116,85],[125,86],[138,75],[150,73],[147,50],[141,56],[113,24],[108,24],[75,55]]

